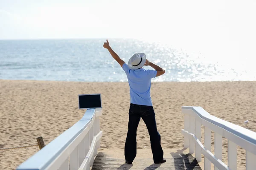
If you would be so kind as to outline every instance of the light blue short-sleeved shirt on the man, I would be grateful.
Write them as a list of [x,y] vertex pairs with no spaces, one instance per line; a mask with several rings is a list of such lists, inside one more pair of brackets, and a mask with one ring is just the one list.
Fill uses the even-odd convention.
[[131,70],[126,63],[122,68],[128,78],[131,103],[152,106],[150,96],[151,79],[157,76],[157,71],[145,70],[144,68]]

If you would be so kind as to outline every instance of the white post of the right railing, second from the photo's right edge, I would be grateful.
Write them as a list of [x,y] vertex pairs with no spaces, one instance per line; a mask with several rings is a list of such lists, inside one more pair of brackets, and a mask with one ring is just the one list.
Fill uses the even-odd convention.
[[228,158],[227,158],[227,162],[228,162],[228,167],[231,170],[236,170],[236,166],[237,166],[237,153],[236,153],[236,144],[230,140],[228,140],[227,143],[227,154],[228,154]]

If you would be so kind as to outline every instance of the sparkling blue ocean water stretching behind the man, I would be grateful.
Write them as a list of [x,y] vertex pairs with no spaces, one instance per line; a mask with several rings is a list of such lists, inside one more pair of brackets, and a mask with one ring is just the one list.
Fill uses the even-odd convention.
[[[122,68],[103,48],[104,42],[105,39],[0,40],[0,79],[127,82]],[[134,53],[143,52],[149,61],[164,68],[166,74],[153,78],[153,82],[256,80],[250,58],[227,62],[160,42],[134,39],[109,42],[125,62]]]

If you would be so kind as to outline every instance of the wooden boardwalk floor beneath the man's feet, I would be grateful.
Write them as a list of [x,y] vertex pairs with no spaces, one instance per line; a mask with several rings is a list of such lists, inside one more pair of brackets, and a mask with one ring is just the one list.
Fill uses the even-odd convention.
[[126,164],[124,150],[102,150],[91,170],[201,170],[196,159],[182,150],[165,149],[166,163],[154,164],[151,149],[137,149],[133,164]]

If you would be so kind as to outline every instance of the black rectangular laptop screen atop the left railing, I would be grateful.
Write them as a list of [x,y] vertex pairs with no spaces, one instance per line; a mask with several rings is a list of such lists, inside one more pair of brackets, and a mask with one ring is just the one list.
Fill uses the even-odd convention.
[[79,94],[79,109],[102,108],[101,94]]

